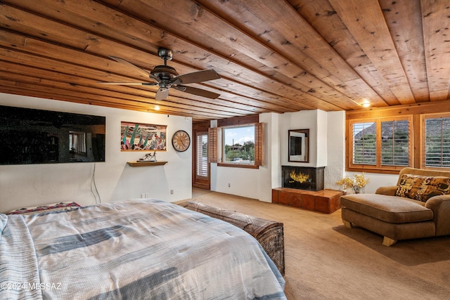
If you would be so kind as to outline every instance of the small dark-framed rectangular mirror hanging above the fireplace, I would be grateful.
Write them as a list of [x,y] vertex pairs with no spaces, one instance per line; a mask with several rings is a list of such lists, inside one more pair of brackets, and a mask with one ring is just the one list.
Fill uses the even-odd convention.
[[309,162],[309,129],[295,129],[288,133],[288,161]]

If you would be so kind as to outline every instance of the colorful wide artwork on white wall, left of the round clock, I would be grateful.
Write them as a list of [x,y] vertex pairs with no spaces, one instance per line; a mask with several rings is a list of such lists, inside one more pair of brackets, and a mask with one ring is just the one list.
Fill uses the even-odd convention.
[[167,125],[120,122],[120,150],[167,151]]

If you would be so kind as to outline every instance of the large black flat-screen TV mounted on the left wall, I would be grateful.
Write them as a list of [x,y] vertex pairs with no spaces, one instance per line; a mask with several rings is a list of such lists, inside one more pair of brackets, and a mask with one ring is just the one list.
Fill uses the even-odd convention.
[[0,164],[105,161],[105,117],[0,106]]

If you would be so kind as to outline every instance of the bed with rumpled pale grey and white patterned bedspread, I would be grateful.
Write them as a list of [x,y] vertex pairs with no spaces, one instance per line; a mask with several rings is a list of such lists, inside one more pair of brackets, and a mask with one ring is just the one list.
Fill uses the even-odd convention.
[[162,200],[0,214],[0,299],[286,299],[254,237]]

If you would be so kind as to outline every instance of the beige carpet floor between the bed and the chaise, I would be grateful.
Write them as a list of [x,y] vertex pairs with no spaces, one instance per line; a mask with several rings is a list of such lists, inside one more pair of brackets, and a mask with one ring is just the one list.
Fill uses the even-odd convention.
[[284,223],[288,299],[450,299],[450,237],[400,241],[333,214],[193,190],[193,200]]

